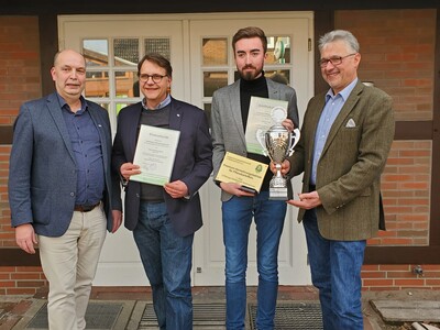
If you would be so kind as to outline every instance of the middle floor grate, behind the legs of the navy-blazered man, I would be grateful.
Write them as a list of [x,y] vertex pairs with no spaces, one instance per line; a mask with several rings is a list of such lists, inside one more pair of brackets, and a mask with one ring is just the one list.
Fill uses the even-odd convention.
[[[226,305],[224,302],[194,302],[193,327],[194,329],[219,329],[224,327]],[[139,330],[157,329],[157,319],[154,314],[153,304],[146,304],[142,315]]]

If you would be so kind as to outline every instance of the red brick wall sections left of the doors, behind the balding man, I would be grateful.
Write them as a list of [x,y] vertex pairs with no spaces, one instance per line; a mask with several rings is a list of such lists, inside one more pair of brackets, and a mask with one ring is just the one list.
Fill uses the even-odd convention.
[[[23,101],[41,97],[38,20],[0,16],[0,125]],[[0,248],[15,245],[8,204],[9,145],[0,145]],[[30,295],[45,284],[41,267],[0,267],[0,295]]]

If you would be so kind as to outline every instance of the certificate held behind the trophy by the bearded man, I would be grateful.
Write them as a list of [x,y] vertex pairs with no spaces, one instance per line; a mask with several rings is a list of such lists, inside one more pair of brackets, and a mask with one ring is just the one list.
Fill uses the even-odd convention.
[[251,97],[246,132],[244,134],[249,153],[265,155],[263,146],[257,140],[257,134],[264,134],[275,124],[274,117],[277,117],[277,120],[280,120],[279,122],[286,119],[287,107],[287,101]]

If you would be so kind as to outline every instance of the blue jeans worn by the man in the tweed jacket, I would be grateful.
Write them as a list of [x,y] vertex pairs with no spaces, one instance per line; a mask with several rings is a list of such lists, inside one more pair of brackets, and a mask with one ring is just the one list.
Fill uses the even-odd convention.
[[319,289],[324,330],[362,330],[361,267],[366,241],[321,237],[315,209],[304,217],[311,282]]

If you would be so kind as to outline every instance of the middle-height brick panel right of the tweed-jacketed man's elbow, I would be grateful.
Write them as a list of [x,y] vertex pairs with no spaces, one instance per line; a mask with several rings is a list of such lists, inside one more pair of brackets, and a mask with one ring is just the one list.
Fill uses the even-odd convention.
[[431,141],[395,141],[382,175],[386,231],[370,245],[429,245]]

